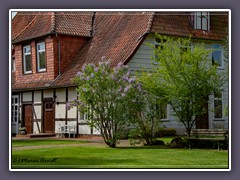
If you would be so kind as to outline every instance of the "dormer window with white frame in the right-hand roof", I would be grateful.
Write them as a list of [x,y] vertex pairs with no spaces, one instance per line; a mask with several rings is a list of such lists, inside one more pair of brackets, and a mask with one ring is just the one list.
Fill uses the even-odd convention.
[[204,31],[210,30],[210,13],[195,12],[194,28]]

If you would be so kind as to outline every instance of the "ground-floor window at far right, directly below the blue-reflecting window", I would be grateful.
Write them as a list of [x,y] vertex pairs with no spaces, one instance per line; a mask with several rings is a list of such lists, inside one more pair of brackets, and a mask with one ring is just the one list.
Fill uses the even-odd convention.
[[222,92],[214,93],[214,118],[223,118]]

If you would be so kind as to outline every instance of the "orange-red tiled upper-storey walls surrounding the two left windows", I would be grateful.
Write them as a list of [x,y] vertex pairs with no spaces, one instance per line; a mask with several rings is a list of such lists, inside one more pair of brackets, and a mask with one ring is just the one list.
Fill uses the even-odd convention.
[[86,39],[83,37],[70,37],[70,36],[48,36],[43,39],[45,41],[45,53],[46,53],[46,71],[37,72],[37,60],[36,60],[36,43],[37,41],[31,41],[28,44],[31,45],[31,58],[32,58],[32,73],[23,73],[23,61],[22,61],[22,44],[15,45],[15,60],[16,60],[16,82],[28,83],[38,80],[53,80],[58,75],[58,41],[61,44],[61,73],[64,72],[66,67],[76,56],[79,49],[82,48]]

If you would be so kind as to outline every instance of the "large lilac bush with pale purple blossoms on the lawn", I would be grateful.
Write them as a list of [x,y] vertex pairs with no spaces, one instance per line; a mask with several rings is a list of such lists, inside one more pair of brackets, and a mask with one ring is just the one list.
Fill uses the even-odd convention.
[[116,147],[125,128],[133,119],[133,108],[141,85],[131,76],[127,66],[111,68],[102,58],[98,65],[84,65],[74,82],[78,84],[79,99],[74,102],[87,122],[101,132],[105,143]]

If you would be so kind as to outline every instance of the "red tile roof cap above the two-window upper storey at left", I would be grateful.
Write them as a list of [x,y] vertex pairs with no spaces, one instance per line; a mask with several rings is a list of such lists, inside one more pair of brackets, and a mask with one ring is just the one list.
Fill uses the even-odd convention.
[[13,43],[51,33],[91,36],[92,12],[19,12],[12,21]]

